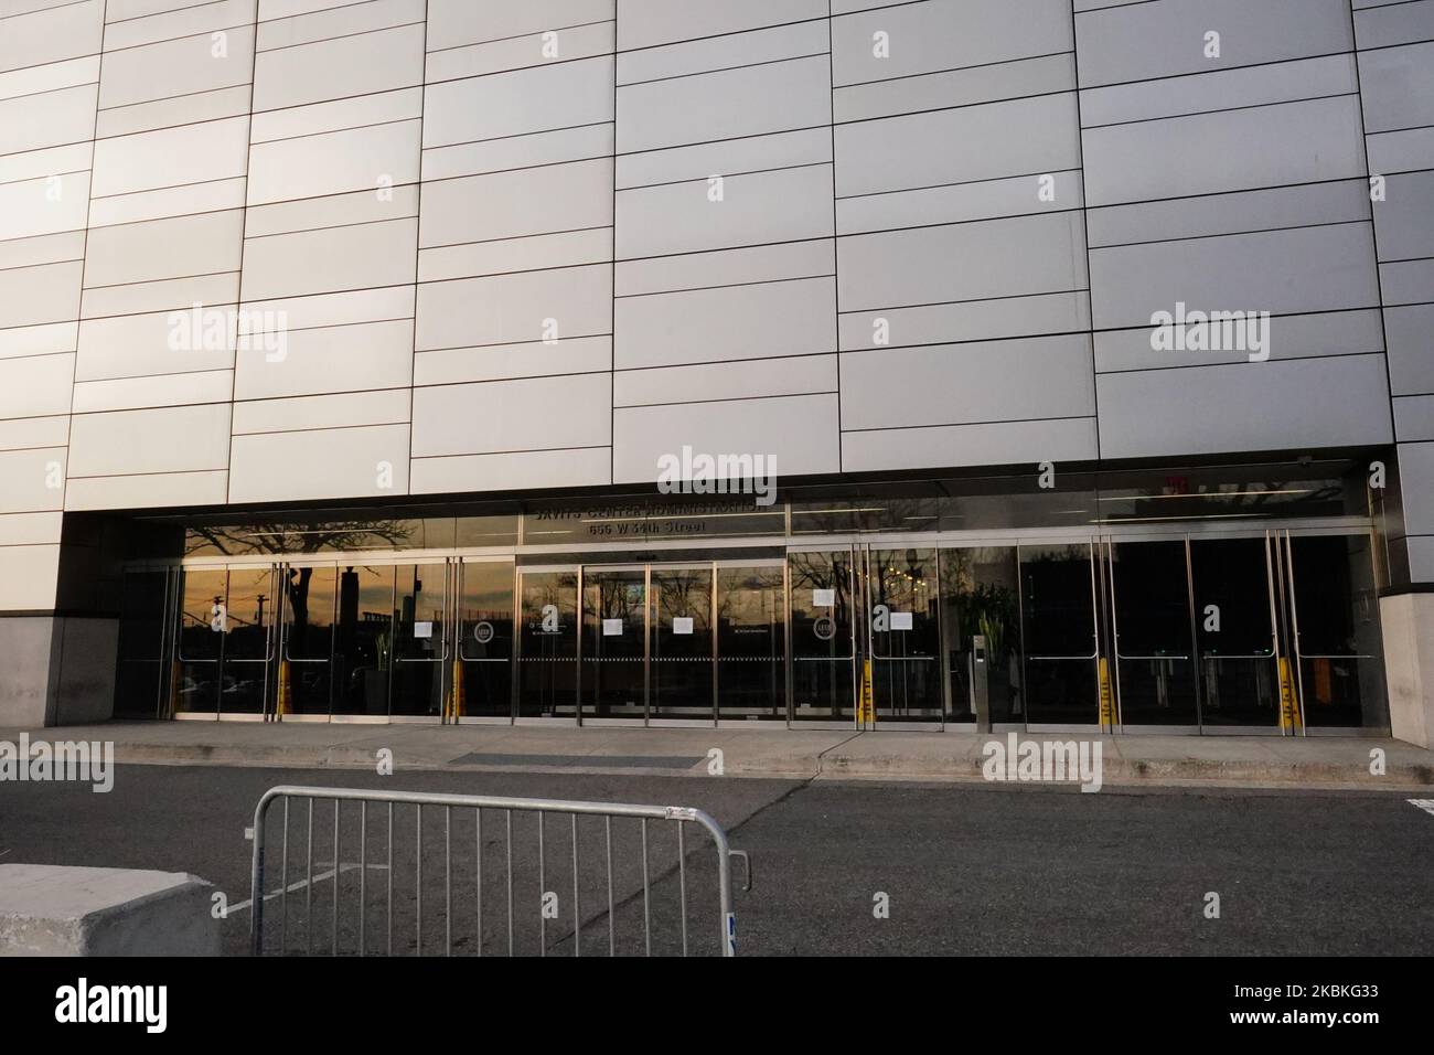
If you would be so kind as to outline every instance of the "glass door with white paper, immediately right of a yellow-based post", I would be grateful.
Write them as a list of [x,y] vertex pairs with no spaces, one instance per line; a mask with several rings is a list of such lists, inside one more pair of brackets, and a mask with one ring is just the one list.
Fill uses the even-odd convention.
[[868,550],[866,642],[878,725],[942,721],[936,550]]

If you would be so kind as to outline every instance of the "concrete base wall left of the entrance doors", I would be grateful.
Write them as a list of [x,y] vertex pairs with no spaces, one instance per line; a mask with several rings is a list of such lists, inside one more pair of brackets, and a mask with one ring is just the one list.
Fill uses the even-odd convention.
[[0,616],[0,728],[113,716],[118,646],[113,619]]

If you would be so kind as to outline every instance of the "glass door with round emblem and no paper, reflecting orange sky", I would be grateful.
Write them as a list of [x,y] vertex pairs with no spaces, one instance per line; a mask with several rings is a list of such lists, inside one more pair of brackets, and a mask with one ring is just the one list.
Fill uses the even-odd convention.
[[513,566],[472,561],[457,589],[457,656],[463,679],[457,718],[513,716]]

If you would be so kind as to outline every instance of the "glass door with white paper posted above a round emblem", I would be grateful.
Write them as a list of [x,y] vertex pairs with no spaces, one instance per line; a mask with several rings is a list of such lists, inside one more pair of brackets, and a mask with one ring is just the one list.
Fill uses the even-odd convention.
[[787,555],[793,721],[852,722],[856,718],[852,570],[849,548]]

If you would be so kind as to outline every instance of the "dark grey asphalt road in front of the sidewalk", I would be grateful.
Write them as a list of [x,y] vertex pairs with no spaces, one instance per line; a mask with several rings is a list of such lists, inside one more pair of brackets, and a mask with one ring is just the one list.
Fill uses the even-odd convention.
[[[228,952],[244,952],[251,909],[254,804],[275,784],[456,791],[700,807],[750,851],[751,893],[737,893],[743,955],[1430,955],[1434,953],[1434,815],[1404,797],[1334,792],[1116,792],[1047,788],[757,781],[549,774],[397,774],[120,766],[110,794],[87,785],[0,785],[0,863],[86,864],[189,871],[228,897]],[[315,810],[315,880],[307,883],[307,807],[290,821],[287,949],[334,942],[333,808]],[[280,845],[278,815],[270,825]],[[386,890],[394,881],[399,953],[416,950],[417,833],[400,811],[394,866],[387,868],[383,808],[370,808],[366,868],[358,868],[358,817],[346,807],[340,833],[338,946],[353,953],[366,877],[364,944],[387,947]],[[506,952],[506,830],[485,814],[485,950]],[[619,950],[641,952],[644,907],[654,949],[680,949],[674,825],[652,822],[651,887],[644,906],[641,833],[614,822],[614,927]],[[607,952],[602,822],[579,834],[584,952]],[[472,814],[455,814],[452,940],[473,952],[479,858]],[[442,861],[445,817],[424,815],[423,950],[449,940]],[[717,943],[713,853],[687,841],[687,914],[693,952]],[[277,851],[275,851],[277,854]],[[515,824],[515,949],[572,952],[572,843],[566,818],[548,817],[545,873],[536,867],[536,822]],[[270,866],[270,891],[280,888]],[[736,874],[740,880],[740,864]],[[526,891],[526,893],[525,893]],[[552,891],[552,920],[539,894]],[[1206,917],[1219,894],[1219,919]],[[878,919],[878,894],[889,916]],[[308,903],[310,896],[313,903]],[[282,901],[268,903],[271,947]]]

